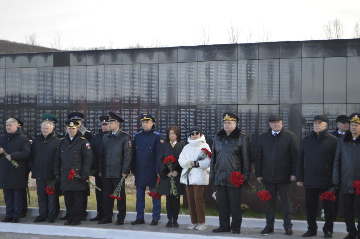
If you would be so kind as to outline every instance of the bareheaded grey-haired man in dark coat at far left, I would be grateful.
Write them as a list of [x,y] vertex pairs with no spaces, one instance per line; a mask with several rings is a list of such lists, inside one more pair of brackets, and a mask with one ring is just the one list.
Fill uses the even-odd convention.
[[30,142],[23,135],[18,121],[6,120],[6,133],[0,136],[0,188],[3,189],[6,216],[1,222],[19,222],[23,190],[26,188],[26,164]]

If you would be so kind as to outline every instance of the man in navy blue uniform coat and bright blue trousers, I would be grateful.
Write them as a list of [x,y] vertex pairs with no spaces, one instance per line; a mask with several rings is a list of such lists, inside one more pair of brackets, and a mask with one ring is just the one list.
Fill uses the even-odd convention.
[[[136,185],[136,220],[132,225],[144,224],[145,190],[152,191],[159,177],[159,151],[164,137],[156,131],[155,119],[150,114],[140,116],[143,130],[135,134],[134,156],[132,159],[132,173],[135,175]],[[161,212],[161,199],[153,199],[152,226],[158,225]]]

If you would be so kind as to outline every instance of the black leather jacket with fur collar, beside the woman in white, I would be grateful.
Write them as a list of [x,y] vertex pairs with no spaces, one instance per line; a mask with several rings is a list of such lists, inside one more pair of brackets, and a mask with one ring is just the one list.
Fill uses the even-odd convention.
[[250,142],[239,128],[236,127],[229,136],[224,129],[217,133],[211,151],[210,180],[215,185],[235,187],[230,181],[230,175],[234,171],[239,171],[244,180],[249,180]]

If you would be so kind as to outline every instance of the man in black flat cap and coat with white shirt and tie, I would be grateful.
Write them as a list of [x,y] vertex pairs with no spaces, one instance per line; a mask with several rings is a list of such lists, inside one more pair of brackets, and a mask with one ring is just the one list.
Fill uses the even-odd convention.
[[276,194],[279,191],[285,234],[292,235],[290,183],[296,179],[299,144],[293,132],[283,129],[283,118],[280,115],[270,116],[269,125],[270,129],[259,136],[255,161],[256,179],[264,182],[272,196],[266,202],[266,227],[261,234],[274,232]]

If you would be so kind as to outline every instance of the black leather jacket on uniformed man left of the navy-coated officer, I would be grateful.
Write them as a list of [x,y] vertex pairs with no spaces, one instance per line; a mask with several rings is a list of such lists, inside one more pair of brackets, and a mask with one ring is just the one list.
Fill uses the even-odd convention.
[[121,178],[129,174],[132,161],[132,141],[121,129],[114,136],[105,134],[100,148],[100,173],[103,178]]

